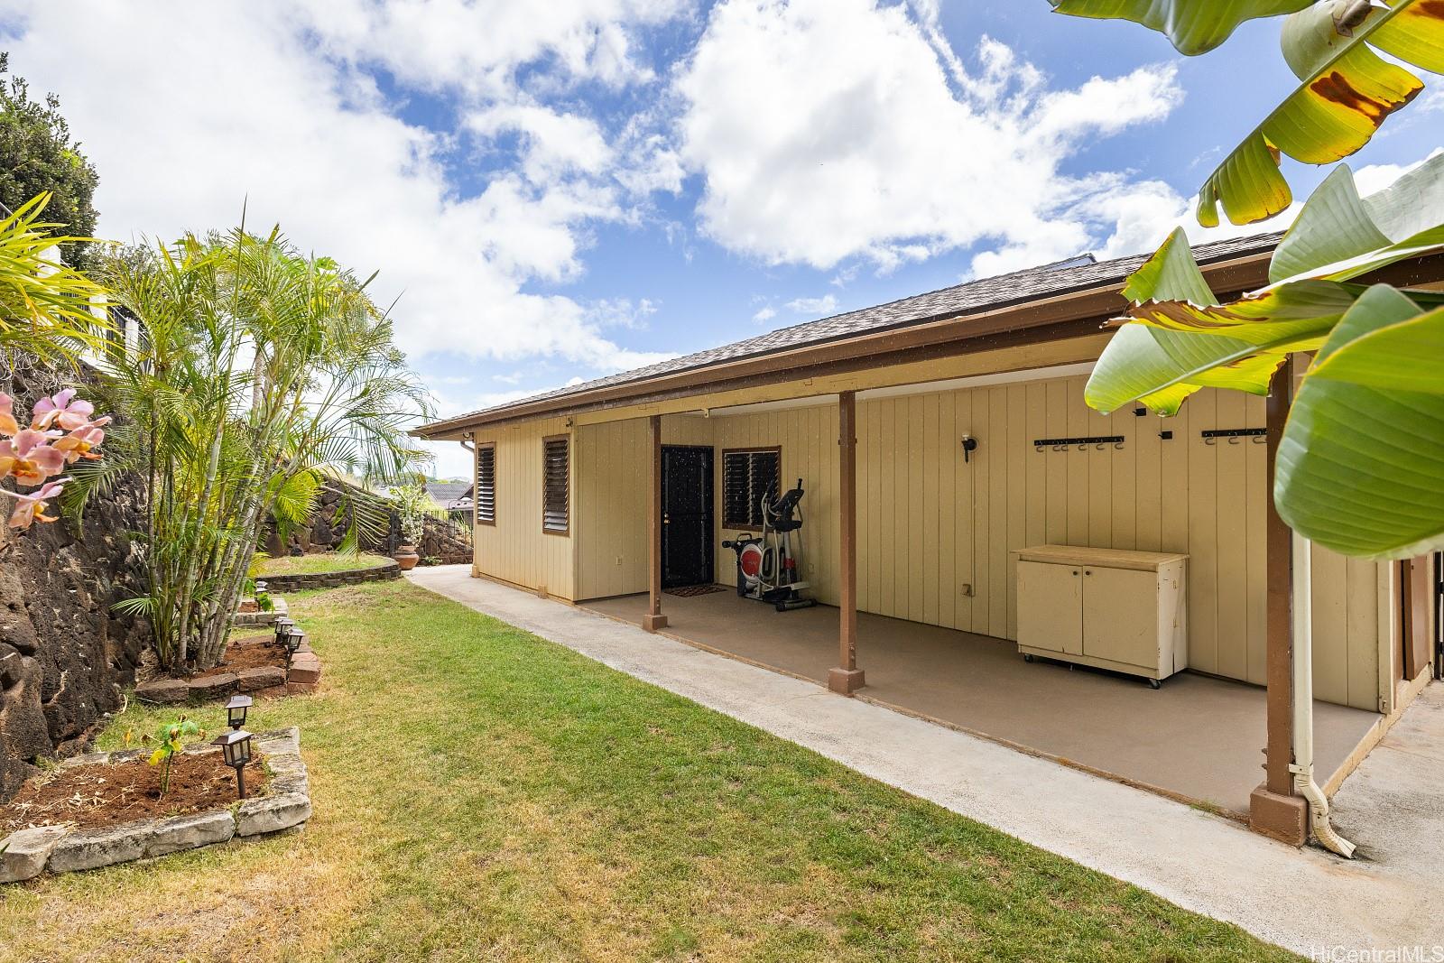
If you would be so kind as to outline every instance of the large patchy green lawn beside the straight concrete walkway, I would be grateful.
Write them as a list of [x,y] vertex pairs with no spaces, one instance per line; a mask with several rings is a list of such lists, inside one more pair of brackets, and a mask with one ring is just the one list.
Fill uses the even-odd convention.
[[410,583],[292,606],[322,687],[253,728],[302,726],[306,830],[0,889],[0,954],[1292,959]]

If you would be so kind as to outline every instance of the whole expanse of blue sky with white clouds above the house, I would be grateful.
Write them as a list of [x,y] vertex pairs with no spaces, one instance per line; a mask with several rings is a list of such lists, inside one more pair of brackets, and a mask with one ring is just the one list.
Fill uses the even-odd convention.
[[[0,0],[0,30],[100,169],[101,234],[245,201],[380,269],[445,414],[1151,248],[1295,82],[1276,20],[1186,59],[1045,0]],[[1362,188],[1440,146],[1425,79]]]

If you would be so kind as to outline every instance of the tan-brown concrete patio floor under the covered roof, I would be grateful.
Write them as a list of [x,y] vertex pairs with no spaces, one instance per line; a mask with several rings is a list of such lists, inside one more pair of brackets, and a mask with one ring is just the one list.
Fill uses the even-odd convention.
[[[585,602],[638,624],[645,595]],[[669,595],[667,635],[700,642],[765,668],[827,681],[838,664],[838,609],[777,614],[713,592]],[[1154,692],[1142,680],[1061,663],[1028,664],[1002,638],[858,614],[859,694],[1155,787],[1246,819],[1265,742],[1264,689],[1178,673]],[[1353,752],[1379,713],[1314,702],[1314,759],[1323,783]]]

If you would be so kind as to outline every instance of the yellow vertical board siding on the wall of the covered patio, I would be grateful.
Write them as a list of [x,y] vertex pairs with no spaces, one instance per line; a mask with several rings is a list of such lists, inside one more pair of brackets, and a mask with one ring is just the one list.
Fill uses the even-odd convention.
[[[1038,543],[1187,552],[1188,664],[1264,681],[1264,446],[1204,443],[1213,427],[1261,427],[1264,400],[1200,391],[1174,419],[1102,416],[1083,403],[1083,377],[985,385],[858,403],[858,601],[866,612],[986,635],[1017,637],[1011,552]],[[542,435],[534,430],[540,452]],[[1162,440],[1160,432],[1173,432]],[[979,448],[963,461],[960,437]],[[1035,437],[1122,435],[1066,452]],[[813,595],[836,603],[838,410],[835,403],[748,414],[666,416],[664,443],[715,450],[721,523],[722,452],[781,446],[784,488],[807,494],[804,573]],[[645,591],[645,419],[576,432],[573,536],[578,598]],[[505,472],[498,448],[498,471]],[[508,459],[510,461],[510,459]],[[540,453],[529,462],[540,468]],[[510,475],[503,475],[510,482]],[[539,488],[540,476],[534,485]],[[510,485],[508,485],[510,487]],[[514,498],[514,495],[510,495]],[[498,487],[498,517],[508,489]],[[529,523],[540,508],[524,508]],[[531,539],[537,544],[537,534]],[[732,585],[721,547],[716,578]],[[478,546],[479,547],[479,546]],[[619,559],[619,562],[618,562]],[[488,570],[484,569],[482,570]],[[510,578],[503,575],[503,578]],[[510,580],[530,585],[518,578]],[[1314,549],[1315,694],[1376,709],[1380,580],[1378,566]],[[864,660],[866,638],[862,640]]]

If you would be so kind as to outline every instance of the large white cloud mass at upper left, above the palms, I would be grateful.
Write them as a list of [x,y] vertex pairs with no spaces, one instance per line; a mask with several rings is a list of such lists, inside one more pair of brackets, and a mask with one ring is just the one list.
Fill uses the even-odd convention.
[[[231,225],[245,204],[251,225],[280,222],[306,250],[380,269],[374,290],[383,303],[401,295],[399,339],[413,354],[617,370],[661,355],[617,345],[606,312],[527,284],[575,280],[592,225],[631,217],[612,176],[627,160],[593,118],[542,105],[531,88],[644,81],[628,30],[677,9],[0,0],[0,29],[12,69],[61,95],[101,172],[100,232],[170,238]],[[380,95],[370,65],[445,92],[464,133],[391,113],[404,104]],[[517,163],[459,193],[445,160],[459,139],[497,134],[521,139]]]

